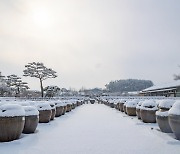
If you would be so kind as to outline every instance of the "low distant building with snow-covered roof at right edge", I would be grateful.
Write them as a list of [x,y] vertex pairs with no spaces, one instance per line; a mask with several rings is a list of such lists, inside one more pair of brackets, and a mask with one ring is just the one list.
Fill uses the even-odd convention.
[[140,92],[141,96],[180,97],[180,81],[152,86]]

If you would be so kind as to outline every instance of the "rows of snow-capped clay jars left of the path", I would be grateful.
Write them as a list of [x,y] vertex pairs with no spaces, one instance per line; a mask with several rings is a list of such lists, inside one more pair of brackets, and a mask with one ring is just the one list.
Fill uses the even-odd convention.
[[83,104],[83,100],[0,103],[0,142],[19,139],[36,131],[38,123],[48,123]]

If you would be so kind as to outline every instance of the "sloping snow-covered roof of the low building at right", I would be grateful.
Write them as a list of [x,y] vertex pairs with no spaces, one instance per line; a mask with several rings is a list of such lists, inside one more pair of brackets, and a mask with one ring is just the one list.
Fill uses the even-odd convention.
[[179,86],[180,86],[180,81],[173,81],[173,82],[164,83],[161,85],[155,85],[155,86],[149,87],[147,89],[142,90],[142,92],[160,90],[160,89],[172,90],[172,88],[179,87]]

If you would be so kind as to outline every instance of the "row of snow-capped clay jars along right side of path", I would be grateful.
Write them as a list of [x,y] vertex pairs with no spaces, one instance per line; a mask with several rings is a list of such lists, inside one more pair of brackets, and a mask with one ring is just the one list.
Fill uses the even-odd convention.
[[144,123],[158,123],[164,133],[174,133],[180,140],[180,101],[162,100],[101,100],[129,116],[137,116]]

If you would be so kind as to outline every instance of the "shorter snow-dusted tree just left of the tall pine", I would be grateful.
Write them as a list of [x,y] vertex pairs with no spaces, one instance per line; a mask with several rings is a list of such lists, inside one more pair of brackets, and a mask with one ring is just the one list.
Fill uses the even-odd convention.
[[20,96],[20,93],[29,89],[27,86],[27,82],[23,82],[21,80],[21,77],[18,77],[17,75],[8,75],[6,79],[6,83],[8,87],[15,90],[16,96]]

